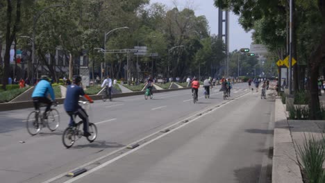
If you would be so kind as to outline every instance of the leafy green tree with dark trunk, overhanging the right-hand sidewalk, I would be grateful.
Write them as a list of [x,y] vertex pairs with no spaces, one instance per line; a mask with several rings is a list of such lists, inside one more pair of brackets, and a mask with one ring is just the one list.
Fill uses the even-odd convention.
[[[288,1],[267,1],[267,0],[248,0],[248,1],[226,1],[215,0],[215,6],[219,8],[229,8],[240,15],[240,24],[246,29],[256,28],[257,33],[254,35],[254,40],[264,41],[265,44],[276,49],[285,42],[284,24],[288,14]],[[319,66],[324,62],[324,45],[325,45],[325,0],[315,1],[295,1],[295,21],[293,33],[294,55],[300,58],[299,62],[308,60],[308,72],[310,74],[310,118],[320,119],[320,105],[317,93],[317,78],[319,76]],[[277,18],[278,17],[278,18]],[[278,23],[274,24],[274,18],[278,19]],[[260,21],[260,22],[259,22]],[[256,22],[258,24],[256,24]],[[275,29],[274,29],[274,28]],[[283,27],[283,28],[281,28]],[[272,29],[273,28],[273,29]],[[272,33],[276,30],[274,33]],[[272,36],[279,36],[278,39],[272,39]],[[269,39],[270,37],[271,39]],[[281,41],[281,37],[283,40]],[[295,49],[299,49],[297,52]],[[294,73],[297,74],[297,71]],[[297,78],[297,77],[296,77]],[[297,79],[295,84],[297,85]]]

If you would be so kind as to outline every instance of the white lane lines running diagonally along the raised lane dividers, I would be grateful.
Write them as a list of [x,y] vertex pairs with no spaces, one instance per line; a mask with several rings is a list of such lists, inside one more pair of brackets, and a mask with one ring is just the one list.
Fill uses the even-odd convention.
[[[248,94],[248,93],[247,93]],[[238,98],[242,98],[243,96],[245,96],[245,95],[247,95],[247,94],[244,94],[244,95],[242,95],[242,96],[240,96],[240,97],[238,97]],[[235,100],[233,100],[233,101],[235,101]],[[228,101],[228,103],[232,103],[233,101]],[[228,104],[228,103],[226,103],[226,104]],[[226,104],[224,104],[224,105],[226,105]],[[138,148],[134,148],[133,150],[130,150],[130,151],[128,151],[128,152],[126,152],[126,153],[124,153],[124,154],[122,154],[122,155],[119,155],[118,157],[115,157],[115,158],[113,158],[113,159],[110,159],[108,162],[105,162],[105,163],[103,163],[103,164],[101,164],[101,165],[99,165],[99,166],[97,166],[97,167],[95,167],[95,168],[92,168],[92,169],[90,169],[90,171],[87,171],[87,172],[85,172],[85,173],[83,173],[83,174],[81,174],[81,175],[78,175],[77,177],[74,177],[74,178],[72,178],[72,179],[70,179],[70,180],[68,180],[68,181],[66,181],[66,182],[64,182],[64,183],[71,183],[71,182],[74,182],[74,181],[76,181],[76,180],[79,180],[79,179],[81,179],[82,177],[85,177],[86,175],[89,175],[90,173],[93,173],[94,171],[98,171],[99,169],[101,169],[101,168],[103,168],[103,167],[105,167],[105,166],[108,166],[109,164],[111,164],[111,163],[113,163],[113,162],[116,162],[117,160],[119,160],[119,159],[121,159],[122,157],[125,157],[126,155],[129,155],[129,154],[131,154],[131,153],[133,153],[133,152],[135,152],[136,150],[140,150],[141,148],[143,148],[143,147],[145,147],[145,146],[147,146],[149,143],[152,143],[153,141],[156,141],[156,140],[158,140],[158,139],[161,139],[161,138],[163,138],[163,137],[165,137],[167,134],[169,134],[169,133],[171,133],[171,132],[174,132],[175,130],[178,130],[179,128],[182,128],[182,127],[184,127],[185,125],[188,125],[188,124],[190,124],[190,123],[193,123],[194,121],[197,121],[197,119],[200,119],[202,116],[206,116],[207,114],[210,114],[211,112],[213,112],[213,111],[215,111],[215,110],[217,110],[217,109],[219,109],[220,107],[223,107],[224,105],[220,105],[219,107],[215,107],[213,110],[211,110],[211,111],[209,111],[209,112],[206,112],[206,113],[204,113],[204,114],[202,114],[201,116],[197,116],[196,118],[194,118],[194,119],[192,119],[191,121],[188,121],[188,123],[183,123],[183,125],[179,125],[177,128],[174,128],[174,129],[172,129],[172,130],[170,130],[169,132],[166,132],[165,134],[162,134],[162,135],[160,135],[160,136],[158,136],[158,137],[156,137],[156,138],[154,138],[154,139],[151,139],[150,141],[147,141],[146,143],[143,143],[141,146],[139,146]],[[190,119],[192,116],[190,116],[188,119]],[[178,122],[178,123],[182,123],[181,121],[180,122]],[[172,126],[174,126],[174,125],[176,125],[177,123],[174,123],[173,125],[170,125],[169,127],[167,127],[167,128],[170,128],[170,127],[172,127]],[[156,134],[156,132],[155,133],[153,133],[153,134]],[[149,136],[147,136],[147,137],[144,137],[143,139],[140,139],[140,141],[142,141],[142,140],[144,140],[144,139],[147,139],[148,137],[151,137],[153,134],[151,134],[151,135],[149,135]],[[132,143],[131,143],[132,144]],[[123,149],[123,148],[122,148]],[[81,166],[82,167],[82,166]],[[83,166],[84,167],[84,166]],[[76,168],[75,168],[76,169]],[[65,174],[62,174],[62,175],[66,175],[67,173],[65,173]],[[58,177],[58,176],[57,176]],[[62,177],[62,176],[61,176]],[[52,181],[53,181],[53,178],[51,179]],[[47,183],[49,182],[49,180],[47,181]]]

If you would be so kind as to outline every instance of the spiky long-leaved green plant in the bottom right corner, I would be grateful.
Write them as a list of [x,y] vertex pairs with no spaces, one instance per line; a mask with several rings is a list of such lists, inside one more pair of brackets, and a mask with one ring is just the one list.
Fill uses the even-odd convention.
[[301,160],[299,164],[306,175],[307,182],[325,182],[325,171],[323,163],[325,161],[325,137],[318,141],[312,134],[307,139],[306,134],[302,146],[297,144],[298,155]]

